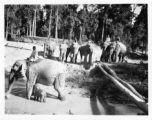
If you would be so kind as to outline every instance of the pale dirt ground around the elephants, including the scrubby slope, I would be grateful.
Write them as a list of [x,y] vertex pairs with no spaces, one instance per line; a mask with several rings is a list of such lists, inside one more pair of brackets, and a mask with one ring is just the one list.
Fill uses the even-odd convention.
[[[5,42],[5,91],[8,86],[8,74],[11,66],[16,60],[26,59],[30,56],[32,43]],[[42,57],[43,46],[36,45],[39,56]],[[101,49],[96,47],[93,61],[99,61]],[[55,51],[55,57],[59,57],[59,50]],[[78,56],[78,63],[80,57]],[[131,60],[130,60],[131,61]],[[131,62],[139,63],[132,60]],[[85,66],[86,67],[86,66]],[[142,112],[136,106],[110,103],[100,97],[92,97],[90,86],[96,87],[95,78],[89,77],[90,70],[94,67],[86,67],[83,64],[69,64],[69,76],[66,80],[64,92],[66,101],[57,99],[57,92],[53,86],[44,89],[47,92],[46,103],[27,100],[25,97],[26,78],[15,82],[11,97],[5,100],[6,114],[50,114],[50,115],[137,115]],[[104,77],[100,79],[104,80]],[[90,83],[90,84],[89,84]],[[93,86],[94,85],[94,86]],[[98,85],[99,86],[99,85]]]

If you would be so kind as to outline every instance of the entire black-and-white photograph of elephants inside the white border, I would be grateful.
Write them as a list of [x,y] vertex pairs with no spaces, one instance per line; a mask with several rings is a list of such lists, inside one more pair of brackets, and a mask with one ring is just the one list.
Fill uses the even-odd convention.
[[148,3],[3,9],[5,115],[149,115]]

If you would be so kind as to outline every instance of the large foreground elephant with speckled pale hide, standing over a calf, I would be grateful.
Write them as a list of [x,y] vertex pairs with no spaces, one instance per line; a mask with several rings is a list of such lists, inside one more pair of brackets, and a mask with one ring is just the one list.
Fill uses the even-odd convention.
[[[24,66],[24,67],[23,67]],[[66,64],[58,61],[49,59],[42,59],[27,66],[27,60],[18,60],[14,63],[10,76],[9,76],[9,87],[5,97],[8,98],[12,90],[14,80],[18,80],[22,69],[26,71],[26,95],[30,99],[33,91],[33,86],[36,83],[40,83],[46,86],[53,85],[55,90],[58,92],[58,98],[65,100],[63,88],[66,78]]]

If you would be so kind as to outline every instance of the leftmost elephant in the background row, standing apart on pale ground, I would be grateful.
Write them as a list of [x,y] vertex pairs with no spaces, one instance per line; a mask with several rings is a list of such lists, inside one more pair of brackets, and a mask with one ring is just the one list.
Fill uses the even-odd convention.
[[48,57],[48,58],[51,58],[54,54],[54,51],[56,49],[56,42],[55,41],[46,41],[44,43],[44,57]]

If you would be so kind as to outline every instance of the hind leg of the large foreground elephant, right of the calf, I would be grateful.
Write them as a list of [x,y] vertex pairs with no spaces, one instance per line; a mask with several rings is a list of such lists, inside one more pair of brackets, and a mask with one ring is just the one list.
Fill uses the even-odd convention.
[[64,85],[65,85],[65,75],[60,74],[58,78],[56,78],[55,83],[54,83],[54,89],[58,92],[58,98],[61,101],[65,100],[65,95],[64,95]]

